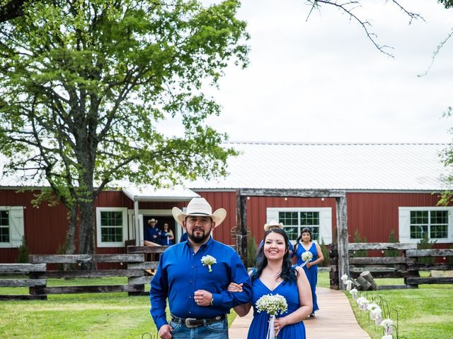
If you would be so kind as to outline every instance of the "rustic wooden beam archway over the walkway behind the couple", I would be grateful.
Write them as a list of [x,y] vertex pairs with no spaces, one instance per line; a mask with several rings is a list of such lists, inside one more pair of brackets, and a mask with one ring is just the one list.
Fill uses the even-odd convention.
[[236,191],[236,249],[244,263],[247,262],[247,197],[296,197],[296,198],[335,198],[338,244],[338,281],[344,288],[341,275],[349,276],[348,257],[348,210],[346,192],[332,189],[239,189]]

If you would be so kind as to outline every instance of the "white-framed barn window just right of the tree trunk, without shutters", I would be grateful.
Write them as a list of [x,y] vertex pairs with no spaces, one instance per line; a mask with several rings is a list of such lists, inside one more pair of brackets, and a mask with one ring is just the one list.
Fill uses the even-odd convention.
[[97,208],[98,247],[124,246],[127,232],[127,208]]

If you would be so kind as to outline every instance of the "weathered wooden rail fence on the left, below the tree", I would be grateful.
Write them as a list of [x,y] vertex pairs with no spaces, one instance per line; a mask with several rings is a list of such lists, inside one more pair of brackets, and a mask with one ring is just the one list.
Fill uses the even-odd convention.
[[[164,251],[160,248],[155,251]],[[144,254],[135,249],[131,254],[93,255],[31,255],[30,263],[0,263],[0,287],[28,287],[29,295],[0,295],[0,300],[47,299],[47,295],[128,292],[129,295],[147,295],[144,285],[151,281],[149,270],[155,262],[145,261]],[[97,270],[96,263],[119,263],[122,269]],[[78,267],[93,264],[91,270],[48,270],[47,264],[64,264]],[[9,277],[8,277],[9,275]],[[21,278],[17,278],[21,275]],[[15,276],[15,278],[11,278]],[[26,278],[22,278],[25,276]],[[105,278],[127,277],[127,285],[47,286],[47,278]]]

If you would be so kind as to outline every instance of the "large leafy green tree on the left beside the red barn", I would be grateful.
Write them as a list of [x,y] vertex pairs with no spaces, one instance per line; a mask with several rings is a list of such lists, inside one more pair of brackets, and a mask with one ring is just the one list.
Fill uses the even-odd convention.
[[[7,172],[50,184],[71,215],[67,253],[94,251],[96,196],[127,179],[155,186],[225,174],[234,150],[207,126],[204,94],[230,62],[246,66],[239,1],[25,2],[0,23],[0,147]],[[180,124],[168,136],[161,121]]]

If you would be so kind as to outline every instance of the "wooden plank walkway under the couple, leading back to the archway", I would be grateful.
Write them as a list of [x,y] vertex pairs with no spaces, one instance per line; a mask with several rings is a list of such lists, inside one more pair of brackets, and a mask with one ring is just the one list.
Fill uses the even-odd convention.
[[[304,321],[306,339],[370,339],[355,320],[348,298],[341,291],[316,288],[319,311]],[[247,316],[236,316],[229,329],[229,339],[247,338],[253,310]]]

